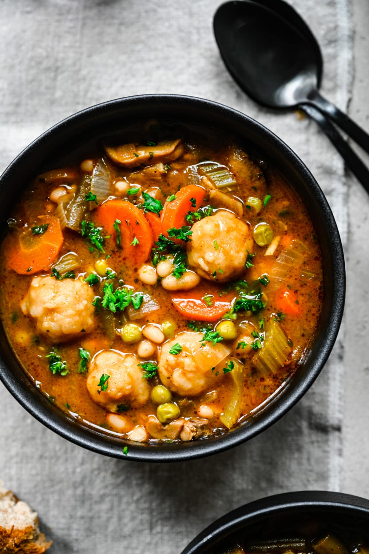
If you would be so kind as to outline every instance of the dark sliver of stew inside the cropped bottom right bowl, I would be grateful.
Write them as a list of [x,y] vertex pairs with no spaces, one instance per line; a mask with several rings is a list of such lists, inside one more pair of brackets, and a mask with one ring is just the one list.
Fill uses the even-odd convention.
[[[228,538],[211,554],[368,554],[367,521],[314,514],[280,517],[256,524],[240,537]],[[258,533],[259,531],[259,533]],[[232,546],[230,546],[230,541]],[[209,554],[210,554],[209,552]]]

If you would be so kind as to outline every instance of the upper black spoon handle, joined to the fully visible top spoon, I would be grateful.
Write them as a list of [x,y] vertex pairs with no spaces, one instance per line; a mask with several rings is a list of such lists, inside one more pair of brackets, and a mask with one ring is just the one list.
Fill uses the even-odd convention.
[[351,137],[359,146],[363,148],[366,152],[369,153],[369,135],[361,127],[359,127],[349,116],[344,114],[341,110],[326,100],[318,90],[312,91],[308,96],[309,104],[315,106],[323,112],[325,115],[328,115],[342,131],[345,131],[347,135]]

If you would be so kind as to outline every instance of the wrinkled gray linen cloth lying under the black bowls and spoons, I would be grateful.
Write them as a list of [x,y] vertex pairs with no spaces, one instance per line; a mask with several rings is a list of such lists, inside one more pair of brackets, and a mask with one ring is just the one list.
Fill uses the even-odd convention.
[[[255,117],[285,140],[324,189],[347,242],[340,157],[314,122],[253,104],[227,74],[212,36],[219,0],[2,0],[0,170],[63,117],[141,93],[210,98]],[[325,58],[324,93],[351,94],[349,0],[294,0]],[[257,497],[342,486],[345,322],[324,372],[267,432],[230,452],[176,464],[86,452],[36,422],[0,387],[0,477],[39,511],[50,552],[180,552],[225,512]],[[48,532],[47,527],[51,530]]]

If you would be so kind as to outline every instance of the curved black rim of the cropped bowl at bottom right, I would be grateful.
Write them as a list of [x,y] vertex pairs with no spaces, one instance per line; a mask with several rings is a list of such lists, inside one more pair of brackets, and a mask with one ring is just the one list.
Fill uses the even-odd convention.
[[316,509],[321,512],[350,511],[357,516],[365,516],[369,523],[369,500],[361,496],[321,490],[282,493],[254,500],[228,512],[201,531],[181,554],[204,554],[254,520],[260,521],[291,510],[306,512]]

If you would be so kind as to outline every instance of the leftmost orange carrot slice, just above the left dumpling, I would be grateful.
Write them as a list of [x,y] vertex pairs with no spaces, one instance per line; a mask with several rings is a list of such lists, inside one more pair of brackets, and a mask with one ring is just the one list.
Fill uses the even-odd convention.
[[32,275],[49,269],[63,244],[63,230],[55,216],[40,216],[38,225],[48,225],[43,234],[33,234],[27,227],[9,236],[8,266],[20,275]]

